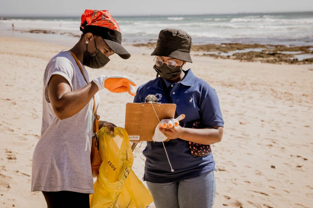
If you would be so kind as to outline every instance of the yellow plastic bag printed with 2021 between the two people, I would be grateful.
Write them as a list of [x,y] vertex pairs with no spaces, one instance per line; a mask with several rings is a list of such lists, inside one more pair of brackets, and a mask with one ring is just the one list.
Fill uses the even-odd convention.
[[144,208],[151,204],[150,191],[131,170],[134,158],[126,130],[115,127],[110,134],[103,127],[98,138],[102,163],[90,208]]

